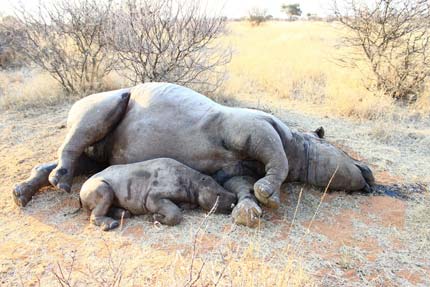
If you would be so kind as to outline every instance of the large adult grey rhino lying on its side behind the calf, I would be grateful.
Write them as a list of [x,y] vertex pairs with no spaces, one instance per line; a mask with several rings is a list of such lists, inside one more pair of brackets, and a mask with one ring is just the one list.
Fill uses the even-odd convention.
[[369,189],[370,169],[322,139],[323,130],[298,133],[258,110],[213,102],[191,89],[168,83],[93,94],[76,102],[58,162],[35,167],[15,186],[17,205],[52,184],[70,192],[75,175],[102,165],[159,157],[175,159],[214,176],[238,194],[237,223],[254,225],[264,205],[277,208],[286,181],[342,190]]

